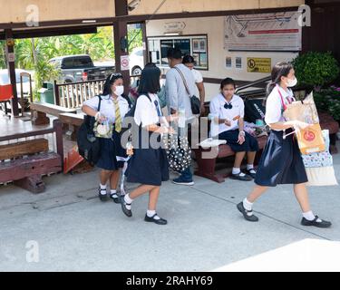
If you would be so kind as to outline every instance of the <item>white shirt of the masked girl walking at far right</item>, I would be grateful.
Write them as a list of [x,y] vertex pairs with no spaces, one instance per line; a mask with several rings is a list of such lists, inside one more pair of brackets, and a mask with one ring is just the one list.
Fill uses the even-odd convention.
[[[283,106],[281,101],[281,96],[279,92],[282,94],[282,98],[286,105],[289,104],[288,99],[290,98],[291,102],[296,101],[294,98],[294,93],[292,90],[288,89],[286,92],[280,86],[276,86],[273,91],[267,97],[266,103],[266,118],[265,121],[267,124],[275,124],[277,122],[284,122],[286,121],[283,116]],[[282,131],[282,130],[276,130]]]

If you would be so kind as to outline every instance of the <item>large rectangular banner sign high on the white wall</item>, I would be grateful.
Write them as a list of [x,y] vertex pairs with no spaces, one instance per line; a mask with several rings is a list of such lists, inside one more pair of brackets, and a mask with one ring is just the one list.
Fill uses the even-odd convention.
[[228,51],[297,52],[302,49],[298,12],[230,15],[225,18]]

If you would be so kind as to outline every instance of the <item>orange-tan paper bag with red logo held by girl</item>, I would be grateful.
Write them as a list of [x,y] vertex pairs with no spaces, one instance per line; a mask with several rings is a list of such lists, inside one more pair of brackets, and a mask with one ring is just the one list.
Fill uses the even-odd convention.
[[325,140],[320,124],[313,124],[306,130],[296,132],[298,147],[302,154],[311,154],[325,151]]

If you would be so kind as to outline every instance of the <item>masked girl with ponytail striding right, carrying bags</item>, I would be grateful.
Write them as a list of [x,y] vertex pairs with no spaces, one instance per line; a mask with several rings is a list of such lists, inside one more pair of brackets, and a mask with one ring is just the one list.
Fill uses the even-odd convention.
[[[331,223],[314,215],[310,208],[306,189],[306,169],[301,158],[294,128],[306,129],[309,125],[301,121],[286,121],[283,112],[287,104],[294,102],[290,89],[297,83],[295,71],[290,63],[277,63],[272,71],[272,82],[267,87],[266,122],[271,132],[263,151],[255,183],[257,186],[238,204],[238,210],[250,222],[257,222],[252,208],[257,198],[267,189],[280,184],[294,185],[296,199],[302,209],[301,225],[306,227],[331,227]],[[286,138],[285,138],[286,137]]]

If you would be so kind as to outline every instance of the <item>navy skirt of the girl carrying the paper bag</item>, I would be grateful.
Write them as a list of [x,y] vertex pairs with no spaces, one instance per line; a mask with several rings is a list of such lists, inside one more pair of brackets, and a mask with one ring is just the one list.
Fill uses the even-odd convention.
[[295,136],[289,135],[284,140],[283,131],[271,131],[259,161],[255,183],[264,187],[276,187],[278,184],[301,184],[307,181]]

